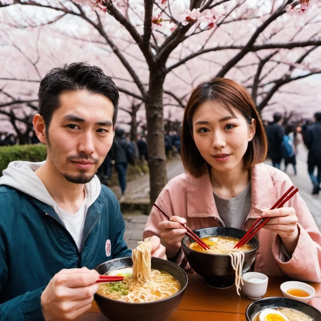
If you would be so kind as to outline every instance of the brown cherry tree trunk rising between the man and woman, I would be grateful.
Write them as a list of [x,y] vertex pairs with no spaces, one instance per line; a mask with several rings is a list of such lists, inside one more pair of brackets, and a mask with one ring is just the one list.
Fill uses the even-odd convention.
[[145,101],[151,204],[156,201],[167,182],[163,123],[164,79],[165,74],[161,70],[151,71]]

